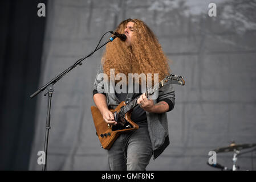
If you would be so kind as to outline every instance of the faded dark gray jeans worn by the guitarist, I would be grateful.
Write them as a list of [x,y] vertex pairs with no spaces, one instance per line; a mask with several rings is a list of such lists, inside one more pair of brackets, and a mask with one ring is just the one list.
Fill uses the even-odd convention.
[[111,171],[144,171],[148,166],[153,154],[148,124],[138,125],[139,129],[120,134],[108,150]]

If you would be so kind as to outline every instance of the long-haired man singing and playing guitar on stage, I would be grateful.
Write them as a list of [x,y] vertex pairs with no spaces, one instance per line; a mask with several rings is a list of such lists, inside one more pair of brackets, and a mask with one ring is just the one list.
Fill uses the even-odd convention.
[[[139,19],[127,19],[119,24],[116,32],[125,34],[127,39],[115,39],[108,44],[102,57],[97,75],[105,73],[111,77],[110,69],[115,69],[115,75],[123,73],[152,73],[152,82],[159,82],[170,75],[168,59],[150,28]],[[158,79],[153,74],[157,73]],[[153,155],[156,159],[169,145],[168,121],[166,112],[173,110],[174,89],[172,84],[158,90],[158,97],[148,98],[145,93],[143,79],[139,81],[139,92],[132,90],[131,99],[137,97],[136,106],[131,112],[131,120],[139,128],[121,133],[108,148],[108,162],[111,170],[145,170]],[[116,85],[116,81],[115,84]],[[93,98],[101,117],[109,127],[116,127],[116,115],[109,109],[115,109],[121,101],[127,98],[130,90],[117,93],[108,92],[97,76],[93,84]],[[128,102],[127,102],[128,103]],[[126,126],[127,127],[127,126]],[[110,135],[110,133],[108,133]],[[98,134],[99,135],[99,134]],[[108,135],[101,135],[107,138]],[[99,137],[100,138],[100,137]]]

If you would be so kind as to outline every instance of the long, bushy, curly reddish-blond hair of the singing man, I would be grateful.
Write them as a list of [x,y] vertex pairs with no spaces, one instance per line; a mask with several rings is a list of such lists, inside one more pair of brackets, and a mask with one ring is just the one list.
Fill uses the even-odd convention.
[[[110,69],[115,68],[117,73],[152,73],[152,84],[154,73],[159,74],[159,82],[170,74],[168,59],[165,56],[159,41],[151,29],[139,19],[127,19],[119,24],[116,32],[124,34],[125,26],[133,22],[133,37],[131,46],[127,46],[122,40],[115,39],[107,44],[102,58],[103,71],[110,77]],[[127,79],[128,80],[128,79]],[[141,81],[140,81],[141,84]]]

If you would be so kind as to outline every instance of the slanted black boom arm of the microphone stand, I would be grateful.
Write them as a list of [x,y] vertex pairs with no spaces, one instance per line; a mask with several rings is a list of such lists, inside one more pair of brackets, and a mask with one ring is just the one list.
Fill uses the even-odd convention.
[[59,81],[64,75],[66,75],[68,72],[70,72],[73,68],[75,68],[77,65],[82,65],[82,61],[84,59],[86,59],[87,57],[90,57],[94,54],[94,52],[96,52],[97,50],[99,50],[101,47],[105,46],[105,44],[112,42],[114,39],[116,38],[116,36],[112,36],[111,38],[109,38],[109,40],[105,43],[103,43],[100,47],[98,47],[97,49],[95,49],[94,51],[92,51],[90,54],[88,54],[86,57],[83,57],[82,59],[79,59],[78,61],[76,61],[75,64],[73,64],[71,67],[67,68],[66,70],[64,70],[62,73],[60,73],[58,76],[56,76],[55,78],[53,78],[51,81],[49,81],[47,84],[43,85],[41,88],[39,88],[38,90],[36,90],[36,92],[34,92],[33,94],[31,94],[30,98],[35,97],[36,95],[38,95],[40,92],[43,92],[44,89],[47,88],[47,86],[49,85],[53,85],[55,84],[57,81]]

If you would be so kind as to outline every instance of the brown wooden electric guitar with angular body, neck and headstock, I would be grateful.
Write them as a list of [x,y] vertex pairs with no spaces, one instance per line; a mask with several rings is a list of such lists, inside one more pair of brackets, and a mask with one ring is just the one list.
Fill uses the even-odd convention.
[[[185,85],[185,80],[183,76],[170,75],[166,76],[158,84],[147,89],[145,92],[146,97],[156,92],[162,86],[166,84],[177,84]],[[131,120],[132,109],[137,105],[137,100],[139,97],[134,98],[128,104],[121,102],[116,109],[109,109],[117,122],[116,125],[110,126],[106,123],[96,106],[91,106],[92,118],[94,119],[94,125],[96,129],[96,135],[100,140],[101,147],[104,149],[111,148],[112,144],[115,142],[116,138],[120,133],[139,129],[139,126]]]

